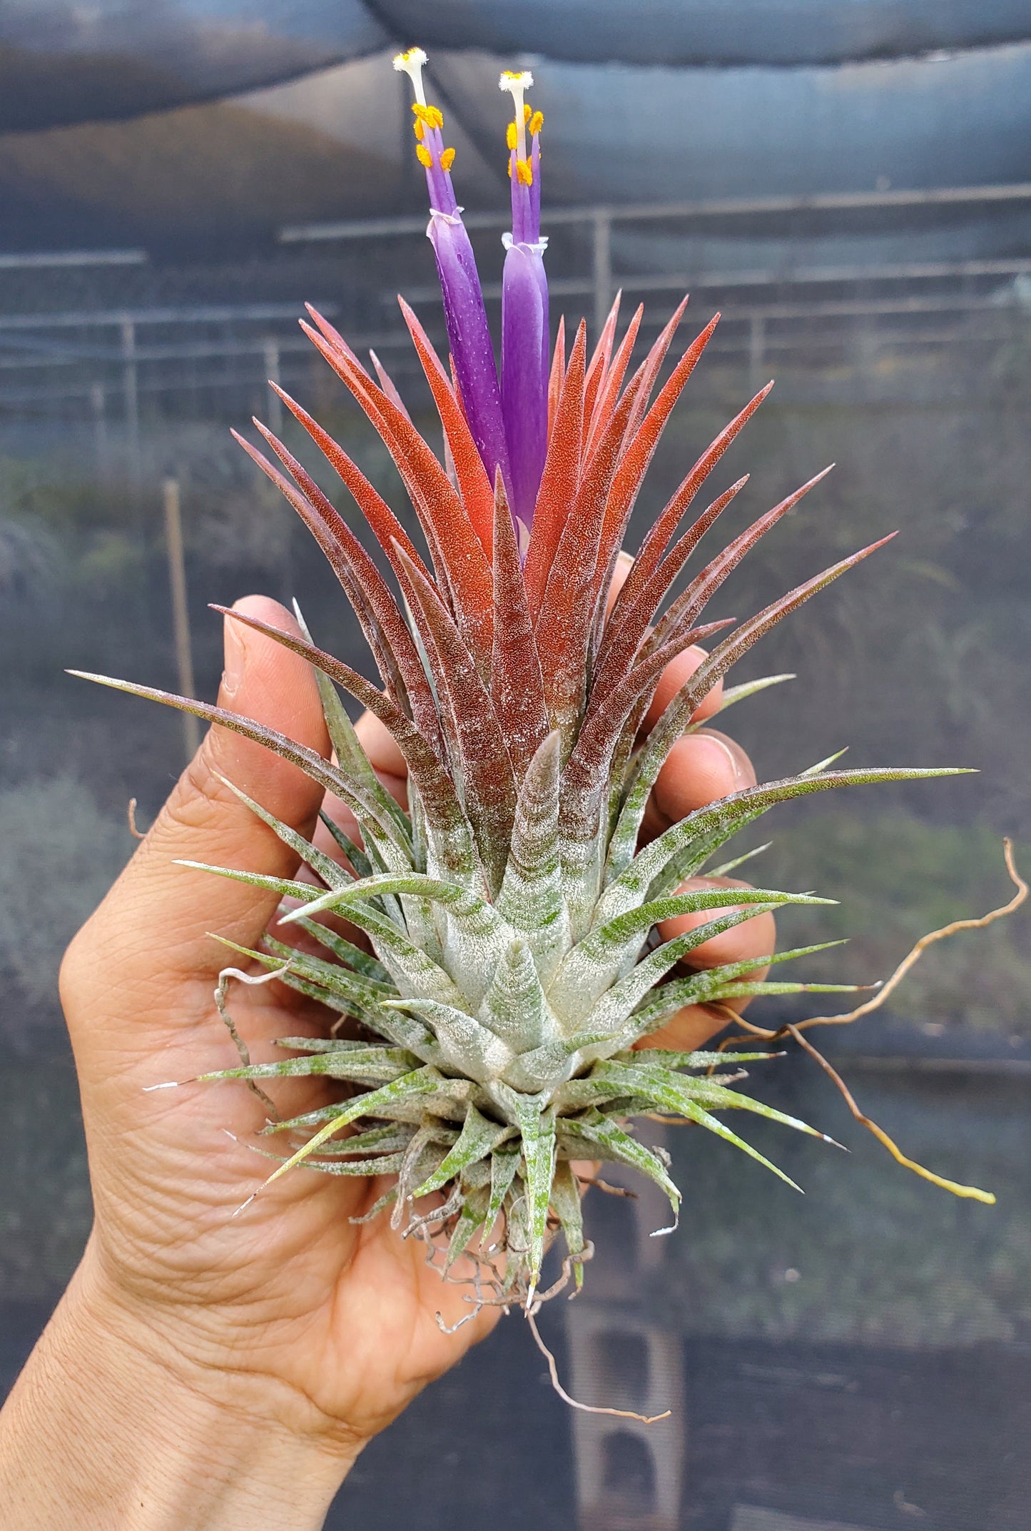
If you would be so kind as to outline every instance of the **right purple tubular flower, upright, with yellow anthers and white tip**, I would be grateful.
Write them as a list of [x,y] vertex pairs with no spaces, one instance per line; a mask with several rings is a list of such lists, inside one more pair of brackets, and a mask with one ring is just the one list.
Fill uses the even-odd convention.
[[502,410],[511,465],[511,505],[523,544],[534,519],[548,453],[549,331],[543,259],[548,240],[540,237],[538,138],[543,116],[531,113],[523,104],[523,92],[532,83],[528,72],[506,70],[500,78],[500,89],[511,92],[516,106],[508,129],[512,231],[505,236],[502,276]]

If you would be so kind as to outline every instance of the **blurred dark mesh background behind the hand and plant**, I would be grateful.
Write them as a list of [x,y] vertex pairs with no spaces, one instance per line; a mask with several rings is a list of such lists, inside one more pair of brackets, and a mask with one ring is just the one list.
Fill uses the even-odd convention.
[[[311,300],[355,349],[375,348],[436,439],[396,308],[402,289],[442,337],[407,81],[390,69],[411,43],[431,55],[494,312],[497,72],[512,66],[534,69],[546,119],[552,315],[597,332],[623,289],[624,318],[646,302],[649,340],[684,291],[688,337],[722,311],[638,534],[771,375],[716,475],[716,490],[753,475],[737,525],[837,462],[714,615],[743,617],[903,531],[748,655],[739,678],[797,680],[728,720],[760,776],[843,746],[855,764],[981,772],[780,810],[763,879],[841,900],[815,920],[788,914],[785,934],[852,937],[811,975],[883,978],[924,931],[1005,902],[1003,834],[1031,863],[1029,0],[9,0],[3,1386],[90,1219],[60,954],[132,851],[128,798],[148,824],[190,741],[179,717],[63,669],[211,698],[220,623],[207,603],[251,589],[297,596],[320,643],[370,663],[318,551],[228,427],[257,413],[283,429],[353,521],[283,424],[278,380],[408,516],[297,317]],[[638,1431],[572,1415],[511,1318],[361,1459],[329,1525],[1025,1528],[1029,987],[1017,917],[936,948],[890,1014],[828,1044],[907,1153],[988,1185],[994,1209],[896,1167],[811,1061],[771,1064],[756,1089],[818,1119],[850,1159],[756,1133],[803,1202],[724,1145],[673,1134],[679,1236],[646,1237],[661,1211],[644,1196],[595,1197],[587,1295],[549,1314],[578,1396],[670,1405],[673,1421]],[[447,1496],[441,1467],[459,1485]]]

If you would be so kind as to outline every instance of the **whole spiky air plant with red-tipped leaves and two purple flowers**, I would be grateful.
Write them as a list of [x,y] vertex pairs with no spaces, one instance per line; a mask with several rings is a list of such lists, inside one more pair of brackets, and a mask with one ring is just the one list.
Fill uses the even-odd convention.
[[[294,850],[312,880],[207,868],[292,900],[278,926],[300,929],[303,948],[289,945],[274,926],[260,951],[243,955],[337,1017],[324,1038],[283,1036],[280,1046],[291,1056],[277,1063],[252,1064],[234,1032],[243,1063],[205,1076],[260,1089],[265,1081],[311,1075],[349,1087],[335,1104],[269,1121],[263,1151],[280,1160],[271,1179],[294,1168],[390,1176],[370,1217],[392,1206],[398,1232],[425,1237],[430,1258],[453,1278],[468,1269],[468,1263],[457,1265],[460,1257],[471,1260],[474,1303],[523,1304],[532,1312],[543,1295],[542,1263],[555,1239],[564,1242],[564,1278],[577,1286],[583,1278],[590,1246],[581,1222],[580,1162],[615,1162],[650,1177],[668,1196],[676,1222],[681,1194],[668,1159],[635,1136],[633,1118],[698,1124],[782,1179],[716,1113],[753,1112],[814,1133],[731,1089],[736,1075],[713,1072],[768,1052],[638,1047],[687,1004],[829,987],[756,981],[753,972],[821,948],[678,975],[681,958],[757,912],[823,902],[774,890],[681,891],[684,880],[739,865],[745,857],[720,867],[711,862],[774,804],[858,782],[947,772],[835,770],[835,756],[785,781],[736,792],[641,842],[659,769],[678,738],[696,726],[691,718],[702,698],[774,623],[881,542],[805,580],[746,622],[702,622],[708,600],[745,553],[820,473],[673,594],[702,534],[745,479],[720,493],[687,530],[678,528],[769,392],[765,387],[693,464],[610,599],[646,470],[716,318],[661,386],[684,303],[636,364],[642,309],[618,340],[618,299],[590,352],[583,323],[566,351],[560,322],[552,348],[540,234],[543,116],[525,100],[531,75],[505,73],[500,86],[514,104],[508,122],[512,227],[503,239],[499,374],[451,182],[454,149],[447,147],[441,110],[425,96],[424,64],[419,49],[395,60],[415,93],[416,155],[430,194],[428,237],[450,366],[404,300],[401,309],[441,416],[444,461],[419,435],[375,358],[373,377],[314,309],[301,328],[387,446],[425,550],[337,441],[277,389],[364,514],[396,591],[268,427],[255,421],[272,456],[237,438],[321,545],[361,623],[379,681],[317,648],[303,622],[304,635],[297,637],[231,614],[314,666],[332,759],[199,701],[124,681],[107,684],[260,741],[337,795],[361,830],[356,844],[326,819],[338,845],[330,856],[248,798],[248,807]],[[644,733],[670,661],[716,634],[722,635],[701,668]],[[722,706],[786,678],[728,687]],[[407,810],[378,779],[337,687],[396,741],[408,770]],[[699,911],[711,917],[672,940],[661,937],[662,922]],[[341,920],[352,935],[355,928],[363,932],[366,943],[341,934]],[[219,1009],[233,1029],[225,983]],[[286,1145],[278,1156],[277,1142]]]

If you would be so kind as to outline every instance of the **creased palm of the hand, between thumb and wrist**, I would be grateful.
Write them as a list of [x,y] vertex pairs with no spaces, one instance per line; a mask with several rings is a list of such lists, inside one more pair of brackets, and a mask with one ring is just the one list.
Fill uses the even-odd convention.
[[[81,992],[83,980],[73,987]],[[444,1334],[437,1312],[454,1324],[470,1307],[460,1288],[427,1266],[425,1245],[402,1242],[387,1216],[350,1222],[385,1180],[289,1174],[234,1216],[272,1168],[248,1147],[268,1110],[234,1084],[145,1092],[158,1079],[225,1067],[233,1050],[211,983],[187,980],[170,1000],[161,1017],[151,1012],[145,1049],[109,1056],[102,1075],[83,1070],[96,1200],[92,1255],[190,1363],[280,1384],[285,1407],[303,1425],[321,1422],[306,1415],[321,1416],[364,1439],[482,1338],[496,1315]],[[324,1026],[317,1006],[277,983],[236,986],[231,1007],[259,1058],[272,1056],[277,1036]],[[285,1081],[277,1092],[285,1115],[326,1099],[312,1081]]]

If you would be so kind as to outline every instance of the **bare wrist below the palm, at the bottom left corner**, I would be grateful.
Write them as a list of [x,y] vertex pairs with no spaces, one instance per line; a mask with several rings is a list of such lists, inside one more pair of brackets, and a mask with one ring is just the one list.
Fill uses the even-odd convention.
[[272,1378],[190,1358],[87,1254],[0,1416],[9,1531],[307,1531],[364,1442]]

